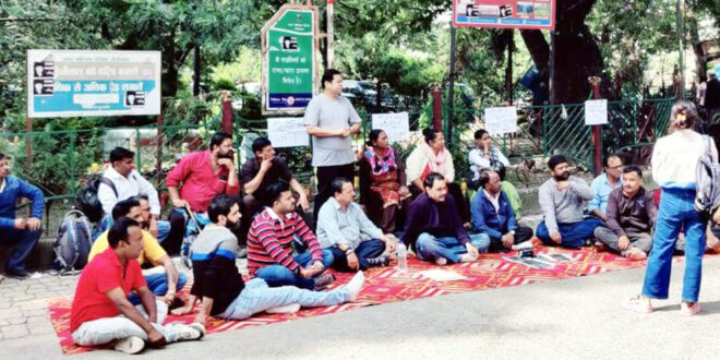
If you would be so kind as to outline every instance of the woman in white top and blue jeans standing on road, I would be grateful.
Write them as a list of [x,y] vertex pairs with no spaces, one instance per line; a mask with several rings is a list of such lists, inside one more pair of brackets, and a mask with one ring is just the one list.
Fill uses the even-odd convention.
[[[657,141],[652,152],[652,177],[662,188],[662,199],[656,221],[652,250],[645,271],[643,293],[623,302],[627,310],[650,313],[651,299],[668,299],[670,269],[675,241],[685,231],[685,275],[681,313],[695,315],[700,311],[698,296],[703,276],[705,228],[707,220],[695,211],[695,169],[708,149],[717,161],[718,152],[711,137],[693,131],[699,123],[695,105],[677,101],[671,110],[671,134]],[[707,144],[707,142],[709,144]]]

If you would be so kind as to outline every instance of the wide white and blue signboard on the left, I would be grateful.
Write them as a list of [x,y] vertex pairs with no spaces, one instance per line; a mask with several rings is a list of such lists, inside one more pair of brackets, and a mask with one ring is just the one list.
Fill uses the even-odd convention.
[[27,50],[29,118],[160,113],[160,51]]

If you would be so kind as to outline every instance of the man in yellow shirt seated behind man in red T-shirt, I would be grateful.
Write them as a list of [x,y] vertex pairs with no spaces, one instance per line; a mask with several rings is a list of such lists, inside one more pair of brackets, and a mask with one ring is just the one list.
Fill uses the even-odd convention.
[[[125,199],[118,202],[115,207],[112,207],[112,218],[132,218],[140,224],[142,229],[147,225],[146,217],[143,215],[143,206],[147,206],[147,202],[142,197]],[[160,247],[157,240],[148,231],[142,230],[141,232],[143,235],[143,249],[137,255],[137,263],[142,265],[147,261],[156,266],[156,268],[143,272],[147,287],[168,307],[181,307],[183,302],[180,298],[176,297],[176,293],[178,292],[177,290],[182,289],[185,285],[185,275],[178,272],[178,268],[172,263],[172,260],[170,260],[170,256],[168,256],[163,247]],[[95,256],[101,254],[108,249],[108,231],[105,231],[97,238],[97,240],[95,240],[87,256],[87,262],[93,261]],[[134,293],[130,293],[129,299],[133,304],[139,304],[141,300]]]

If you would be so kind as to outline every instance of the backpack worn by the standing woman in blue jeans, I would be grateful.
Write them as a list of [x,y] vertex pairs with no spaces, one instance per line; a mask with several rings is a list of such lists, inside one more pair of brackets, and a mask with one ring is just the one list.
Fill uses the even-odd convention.
[[712,156],[712,142],[707,135],[703,135],[706,144],[705,154],[697,161],[695,170],[695,209],[706,219],[710,218],[712,212],[720,206],[720,164]]

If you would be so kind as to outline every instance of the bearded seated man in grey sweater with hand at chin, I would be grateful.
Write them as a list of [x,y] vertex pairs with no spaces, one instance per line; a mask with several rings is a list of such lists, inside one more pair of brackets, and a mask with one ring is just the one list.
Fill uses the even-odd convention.
[[586,219],[583,215],[583,204],[592,199],[592,190],[585,180],[571,177],[563,155],[551,157],[548,168],[552,178],[538,191],[544,219],[538,225],[537,236],[548,245],[580,248],[602,225],[599,218]]

